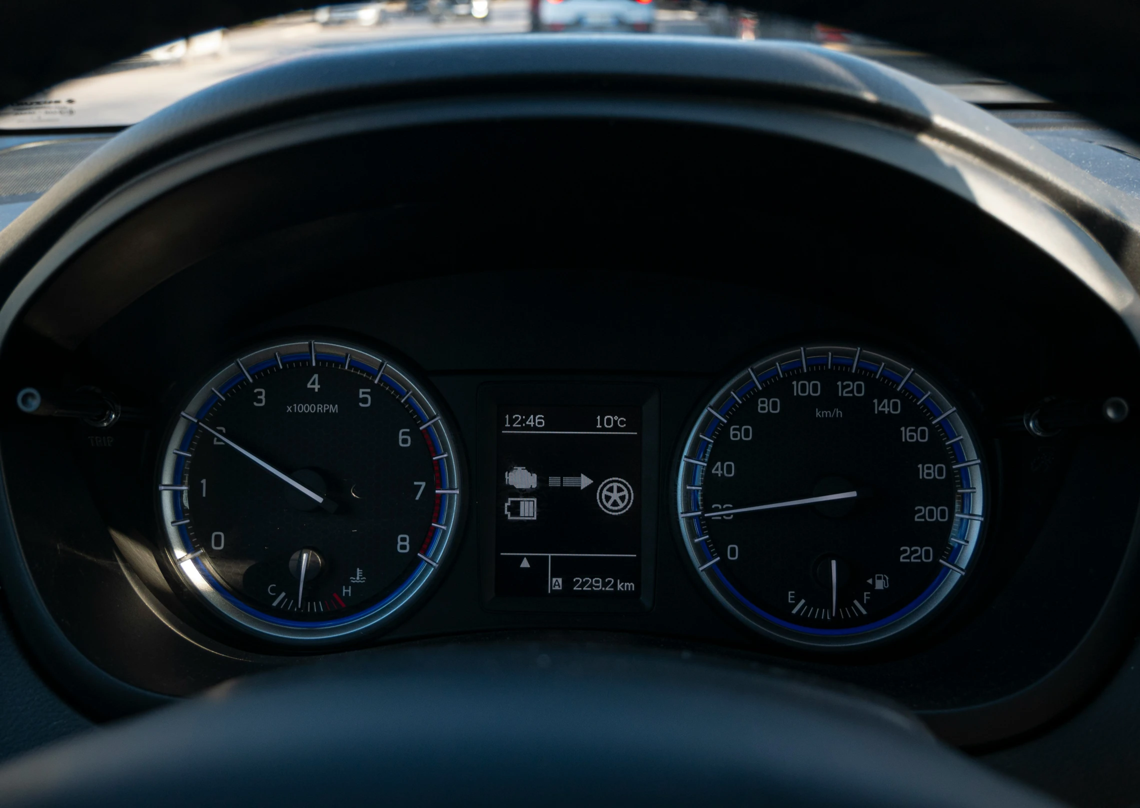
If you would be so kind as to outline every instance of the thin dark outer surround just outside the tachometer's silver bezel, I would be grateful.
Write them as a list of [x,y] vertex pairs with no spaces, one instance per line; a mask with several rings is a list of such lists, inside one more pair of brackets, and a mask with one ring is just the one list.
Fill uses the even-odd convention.
[[[443,555],[439,566],[429,577],[427,581],[416,595],[413,603],[385,619],[382,626],[370,627],[344,637],[335,638],[327,643],[315,642],[302,645],[283,644],[244,630],[219,615],[197,594],[192,591],[184,581],[182,577],[179,574],[178,570],[174,568],[171,554],[168,550],[169,544],[163,528],[161,501],[156,497],[150,497],[148,508],[153,509],[155,514],[154,519],[160,528],[158,532],[154,533],[154,542],[157,550],[155,553],[155,557],[158,562],[162,576],[166,581],[166,587],[158,589],[156,593],[160,601],[165,605],[165,607],[172,611],[176,618],[186,621],[184,630],[190,630],[197,636],[198,642],[204,642],[209,645],[210,638],[217,637],[217,639],[221,643],[221,645],[218,646],[219,651],[225,648],[227,650],[225,653],[229,653],[228,648],[234,648],[239,650],[239,653],[249,652],[253,654],[253,660],[261,658],[266,661],[272,660],[272,664],[275,666],[280,664],[282,662],[288,662],[293,659],[301,660],[306,656],[326,654],[328,653],[329,646],[335,646],[337,650],[351,650],[353,647],[366,647],[385,642],[384,637],[388,634],[431,602],[434,594],[439,590],[440,586],[450,573],[455,558],[462,550],[463,542],[469,539],[466,533],[470,532],[466,528],[469,499],[471,498],[471,478],[469,476],[467,451],[463,443],[463,435],[459,432],[456,417],[448,407],[442,393],[435,387],[435,385],[432,384],[429,374],[420,367],[417,362],[398,349],[393,349],[389,344],[380,342],[375,338],[363,336],[357,332],[329,328],[327,325],[317,329],[306,328],[304,325],[301,324],[286,329],[272,329],[251,335],[242,335],[233,343],[221,345],[214,360],[209,365],[201,362],[197,367],[188,368],[187,373],[180,374],[179,381],[172,385],[163,397],[161,411],[165,413],[165,417],[162,422],[165,424],[165,429],[161,433],[150,432],[150,438],[160,436],[160,439],[157,441],[148,440],[145,448],[145,452],[149,458],[148,463],[150,467],[154,468],[154,482],[153,485],[148,487],[149,490],[155,490],[154,487],[160,483],[163,463],[162,451],[169,443],[170,434],[177,423],[174,418],[178,416],[178,413],[180,411],[179,408],[186,402],[186,400],[194,395],[196,391],[201,390],[203,385],[209,383],[209,381],[220,370],[225,369],[228,364],[231,364],[234,357],[245,356],[250,351],[256,351],[267,345],[301,342],[302,337],[304,337],[304,342],[314,340],[318,344],[327,343],[349,346],[358,345],[368,353],[388,359],[402,373],[406,373],[418,386],[421,392],[431,399],[431,402],[437,408],[438,414],[447,423],[455,466],[461,474],[461,480],[464,481],[463,484],[465,490],[464,496],[459,497],[459,508],[455,514],[454,525],[456,536],[453,537],[451,547]],[[190,375],[192,373],[193,376]],[[421,541],[423,537],[420,537]],[[413,542],[415,544],[415,539],[413,539]],[[197,635],[199,629],[204,630],[205,634]]]

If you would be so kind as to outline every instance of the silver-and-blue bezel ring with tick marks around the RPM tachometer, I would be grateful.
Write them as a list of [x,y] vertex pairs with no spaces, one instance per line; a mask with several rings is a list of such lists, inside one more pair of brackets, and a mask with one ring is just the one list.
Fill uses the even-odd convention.
[[[448,491],[438,495],[442,500],[442,507],[438,523],[433,523],[434,536],[426,553],[430,561],[421,558],[418,566],[393,593],[358,612],[328,621],[287,620],[267,614],[229,591],[229,587],[210,569],[207,554],[187,557],[195,552],[195,548],[185,525],[172,524],[180,521],[181,491],[157,491],[158,515],[161,534],[164,537],[163,550],[170,568],[177,572],[186,588],[213,613],[220,615],[227,623],[261,639],[294,645],[319,645],[347,642],[365,632],[389,627],[408,614],[410,607],[433,588],[455,555],[454,547],[458,544],[455,531],[463,524],[466,505],[463,496],[465,473],[462,447],[457,433],[450,426],[449,414],[437,405],[434,397],[426,392],[425,385],[405,369],[402,360],[393,362],[385,358],[383,352],[352,342],[296,338],[266,342],[246,350],[236,359],[219,364],[207,378],[193,387],[195,392],[188,399],[184,398],[181,406],[171,415],[171,425],[161,444],[163,454],[158,463],[157,485],[179,484],[181,481],[181,470],[187,458],[174,454],[174,450],[182,449],[195,429],[195,424],[182,417],[182,413],[201,415],[215,397],[212,389],[225,393],[229,386],[249,377],[247,370],[250,374],[262,370],[266,362],[277,361],[278,354],[290,357],[300,353],[311,356],[314,364],[335,360],[351,365],[358,370],[370,373],[378,384],[396,386],[398,392],[405,394],[405,399],[413,405],[421,424],[426,424],[422,429],[426,429],[426,434],[434,439],[438,451],[442,455],[438,463],[442,472],[443,489]],[[205,562],[203,557],[206,557]]]

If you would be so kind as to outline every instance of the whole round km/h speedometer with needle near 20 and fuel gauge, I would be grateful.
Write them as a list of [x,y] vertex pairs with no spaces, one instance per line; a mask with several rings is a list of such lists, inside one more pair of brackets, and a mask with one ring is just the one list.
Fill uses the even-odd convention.
[[982,536],[982,456],[910,364],[796,348],[739,373],[697,417],[677,473],[693,565],[754,629],[815,647],[928,617]]

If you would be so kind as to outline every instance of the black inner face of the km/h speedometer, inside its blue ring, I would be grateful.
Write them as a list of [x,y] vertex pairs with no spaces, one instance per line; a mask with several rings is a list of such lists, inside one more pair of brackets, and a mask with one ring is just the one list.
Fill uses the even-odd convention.
[[[816,356],[819,350],[808,349],[808,354]],[[765,362],[758,367],[769,366]],[[820,394],[795,395],[793,385],[801,381],[809,389],[817,384]],[[837,382],[862,384],[864,395],[837,397]],[[717,430],[716,441],[706,455],[708,467],[702,483],[702,523],[710,537],[706,544],[720,558],[719,568],[733,586],[774,617],[807,629],[857,628],[896,614],[942,572],[937,562],[944,550],[952,549],[947,542],[952,520],[947,516],[945,524],[910,524],[905,520],[913,513],[910,504],[948,506],[951,514],[956,511],[958,474],[944,472],[940,481],[921,482],[914,472],[914,462],[942,463],[950,468],[953,454],[935,425],[928,427],[926,444],[906,446],[898,440],[898,426],[926,426],[927,419],[911,395],[894,392],[891,386],[887,379],[852,374],[841,367],[813,366],[806,373],[797,369],[743,395],[743,403],[726,415],[727,423]],[[779,415],[757,415],[756,402],[771,397],[782,401]],[[882,398],[902,401],[897,417],[872,411],[872,401]],[[823,416],[821,409],[826,410]],[[728,431],[746,426],[749,440],[732,441]],[[730,462],[733,475],[718,475],[716,470]],[[764,505],[839,490],[861,495],[855,500],[769,513],[717,515],[723,507]],[[739,547],[735,558],[726,553],[730,545]],[[920,564],[898,564],[898,545],[929,546],[933,557]],[[831,611],[830,593],[821,588],[823,581],[816,569],[831,558],[836,560],[840,578],[839,613],[823,620],[809,615],[821,607]],[[863,582],[877,573],[889,573],[885,589]],[[860,590],[870,590],[871,597],[860,597]],[[792,594],[784,597],[785,591]],[[800,613],[789,612],[788,597],[803,602]],[[854,609],[853,598],[863,605],[863,612]],[[829,638],[806,634],[804,639]]]

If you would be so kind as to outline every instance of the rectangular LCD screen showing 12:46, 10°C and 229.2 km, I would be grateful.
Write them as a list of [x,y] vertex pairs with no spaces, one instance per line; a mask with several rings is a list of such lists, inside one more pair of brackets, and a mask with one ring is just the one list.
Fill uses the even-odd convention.
[[638,598],[642,408],[500,403],[495,595]]

